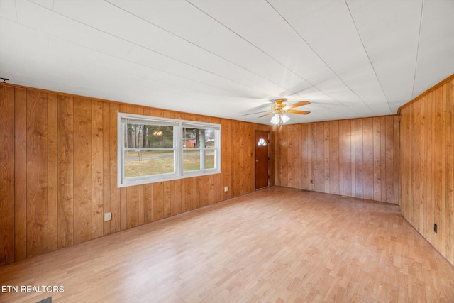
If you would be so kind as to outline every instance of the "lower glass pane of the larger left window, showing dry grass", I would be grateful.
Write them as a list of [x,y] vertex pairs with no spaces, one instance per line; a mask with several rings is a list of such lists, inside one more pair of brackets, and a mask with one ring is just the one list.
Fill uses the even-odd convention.
[[174,172],[173,150],[125,151],[125,177],[161,175]]

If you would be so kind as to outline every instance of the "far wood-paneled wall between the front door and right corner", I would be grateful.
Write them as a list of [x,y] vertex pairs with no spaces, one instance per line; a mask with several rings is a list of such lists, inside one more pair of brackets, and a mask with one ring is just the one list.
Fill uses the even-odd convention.
[[398,116],[284,126],[275,184],[399,204]]

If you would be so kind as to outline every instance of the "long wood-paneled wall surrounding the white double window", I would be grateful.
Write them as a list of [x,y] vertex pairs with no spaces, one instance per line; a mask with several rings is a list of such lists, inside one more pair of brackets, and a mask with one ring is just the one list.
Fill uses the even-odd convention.
[[[221,174],[119,189],[118,111],[220,123]],[[253,192],[255,130],[270,127],[1,84],[0,265]]]

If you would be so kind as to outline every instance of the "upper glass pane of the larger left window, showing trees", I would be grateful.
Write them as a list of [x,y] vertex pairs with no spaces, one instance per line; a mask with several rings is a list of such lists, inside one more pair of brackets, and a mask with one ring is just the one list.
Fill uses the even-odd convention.
[[126,124],[125,148],[173,148],[173,127]]

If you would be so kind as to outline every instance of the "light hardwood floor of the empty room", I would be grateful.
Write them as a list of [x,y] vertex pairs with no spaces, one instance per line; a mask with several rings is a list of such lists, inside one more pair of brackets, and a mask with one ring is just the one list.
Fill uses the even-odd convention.
[[[0,302],[454,302],[399,206],[271,187],[0,268]],[[20,291],[20,289],[19,289]]]

